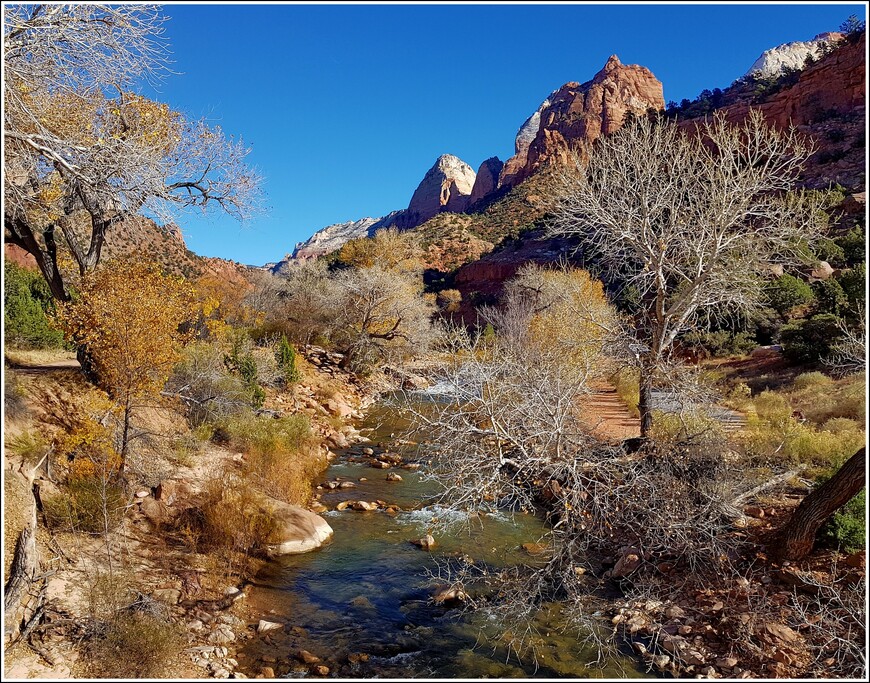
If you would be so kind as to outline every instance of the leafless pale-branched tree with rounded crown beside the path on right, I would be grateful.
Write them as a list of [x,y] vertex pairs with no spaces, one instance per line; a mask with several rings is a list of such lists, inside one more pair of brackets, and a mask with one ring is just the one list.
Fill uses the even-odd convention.
[[578,236],[611,283],[638,294],[643,436],[678,335],[755,307],[767,266],[803,257],[820,234],[820,198],[794,189],[812,152],[796,129],[770,127],[755,110],[742,124],[716,115],[695,130],[641,117],[564,175],[550,234]]

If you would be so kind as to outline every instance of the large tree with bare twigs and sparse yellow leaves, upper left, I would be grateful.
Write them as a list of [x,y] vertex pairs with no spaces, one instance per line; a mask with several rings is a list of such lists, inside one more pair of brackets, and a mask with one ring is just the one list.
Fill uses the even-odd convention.
[[4,241],[29,252],[61,301],[114,226],[217,206],[247,218],[248,149],[133,92],[167,73],[165,17],[148,5],[4,8]]

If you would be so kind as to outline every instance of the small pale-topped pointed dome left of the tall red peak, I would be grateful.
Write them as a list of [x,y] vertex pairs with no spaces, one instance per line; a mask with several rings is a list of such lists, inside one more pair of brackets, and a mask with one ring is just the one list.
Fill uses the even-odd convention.
[[474,188],[474,169],[452,154],[442,154],[414,190],[407,211],[396,222],[402,229],[416,228],[442,211],[461,213]]

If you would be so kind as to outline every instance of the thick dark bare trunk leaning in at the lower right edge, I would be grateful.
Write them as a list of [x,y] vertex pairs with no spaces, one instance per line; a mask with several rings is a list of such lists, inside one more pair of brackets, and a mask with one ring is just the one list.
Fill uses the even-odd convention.
[[862,448],[833,477],[804,498],[779,532],[774,551],[777,559],[800,560],[809,555],[819,527],[864,487],[865,471]]

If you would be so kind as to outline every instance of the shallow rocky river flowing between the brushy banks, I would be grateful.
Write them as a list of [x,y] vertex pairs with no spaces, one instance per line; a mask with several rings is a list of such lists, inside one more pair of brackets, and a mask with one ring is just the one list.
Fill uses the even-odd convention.
[[[604,667],[591,664],[596,653],[562,632],[558,605],[542,611],[535,661],[494,646],[485,636],[496,633],[498,624],[433,604],[431,574],[438,559],[467,554],[491,567],[533,563],[535,558],[521,546],[538,541],[546,530],[534,515],[499,512],[460,525],[460,530],[439,532],[435,524],[448,511],[434,504],[438,486],[427,479],[425,460],[416,461],[417,470],[382,470],[360,462],[365,446],[403,453],[396,438],[404,426],[388,405],[373,406],[360,425],[371,443],[337,454],[322,482],[350,481],[356,487],[322,490],[321,502],[330,509],[324,518],[335,531],[332,542],[313,553],[274,561],[256,577],[248,589],[250,606],[287,626],[249,641],[240,650],[241,670],[255,675],[268,664],[278,676],[303,677],[310,666],[295,655],[304,649],[319,657],[330,675],[343,678],[646,675],[628,654]],[[412,461],[410,451],[404,455]],[[402,481],[388,481],[390,472]],[[336,511],[344,500],[383,500],[401,511]],[[430,531],[436,538],[431,550],[411,543]]]

